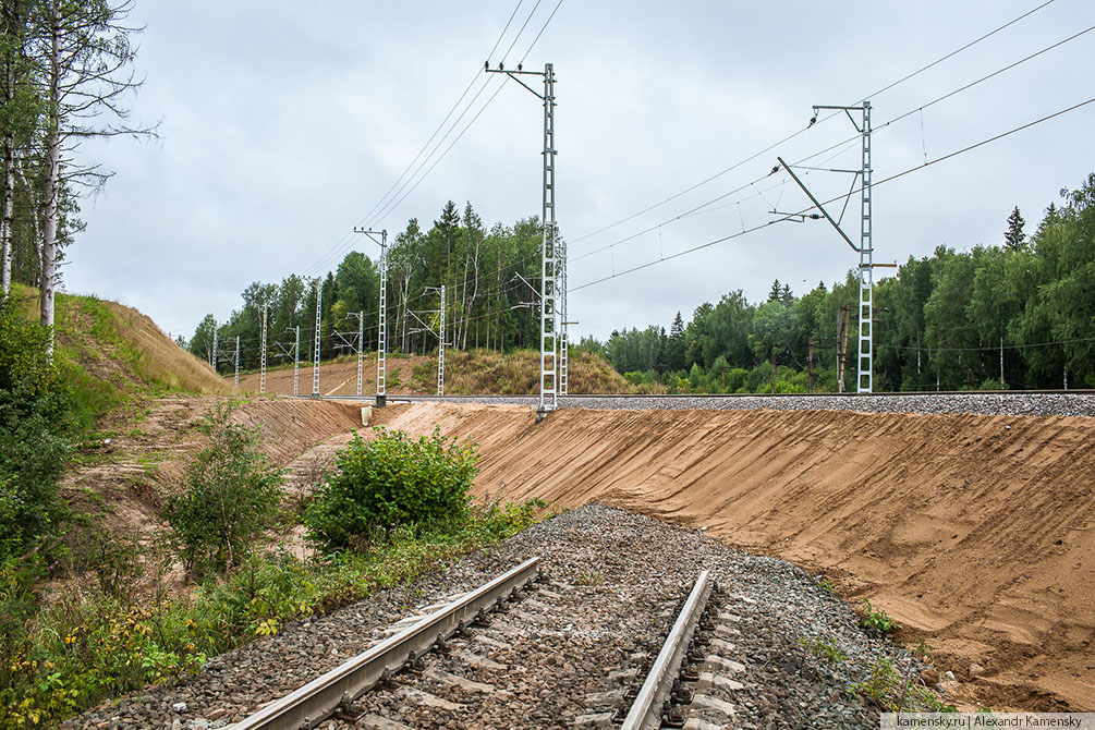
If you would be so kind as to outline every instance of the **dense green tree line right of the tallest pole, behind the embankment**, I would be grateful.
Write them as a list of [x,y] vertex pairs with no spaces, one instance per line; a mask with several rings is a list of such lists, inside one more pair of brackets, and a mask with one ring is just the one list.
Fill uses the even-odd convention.
[[[874,289],[874,390],[1095,387],[1095,174],[1061,190],[1036,232],[1015,208],[1004,242],[910,257]],[[679,392],[855,390],[858,280],[796,297],[740,290],[687,324],[613,332],[633,383]]]

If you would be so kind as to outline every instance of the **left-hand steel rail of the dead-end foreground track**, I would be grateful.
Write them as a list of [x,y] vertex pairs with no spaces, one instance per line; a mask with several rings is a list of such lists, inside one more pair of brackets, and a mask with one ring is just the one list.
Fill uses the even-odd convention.
[[437,610],[326,674],[315,679],[254,715],[228,726],[230,730],[300,730],[313,728],[339,705],[353,702],[391,672],[452,636],[475,616],[509,598],[540,572],[540,558],[512,570]]

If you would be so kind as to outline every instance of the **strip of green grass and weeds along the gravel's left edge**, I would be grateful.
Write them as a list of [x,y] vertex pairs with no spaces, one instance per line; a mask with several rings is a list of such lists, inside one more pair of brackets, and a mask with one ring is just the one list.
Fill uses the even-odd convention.
[[48,726],[195,672],[208,657],[277,634],[288,622],[328,613],[516,534],[537,521],[540,507],[475,507],[464,524],[395,530],[365,553],[257,556],[184,599],[163,592],[141,603],[118,598],[127,592],[110,581],[129,575],[126,561],[136,556],[112,541],[96,568],[100,587],[65,591],[48,603],[36,592],[41,576],[14,561],[0,565],[0,727]]

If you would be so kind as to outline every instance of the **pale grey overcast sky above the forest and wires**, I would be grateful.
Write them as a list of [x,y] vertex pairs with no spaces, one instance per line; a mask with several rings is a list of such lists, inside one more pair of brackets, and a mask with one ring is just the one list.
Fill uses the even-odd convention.
[[[764,223],[773,208],[807,207],[782,172],[764,176],[777,154],[795,162],[851,139],[844,117],[822,114],[772,151],[587,236],[803,130],[814,104],[872,95],[878,182],[1091,99],[1095,32],[917,111],[1095,25],[1091,0],[1050,2],[875,93],[1044,1],[564,0],[525,66],[552,62],[557,76],[557,217],[573,242],[572,289]],[[507,67],[556,2],[539,3]],[[83,204],[88,230],[68,252],[66,288],[136,306],[189,336],[207,313],[223,320],[239,309],[252,281],[325,273],[347,243],[376,256],[350,234],[356,224],[394,235],[418,218],[428,228],[449,199],[470,200],[488,224],[539,216],[540,102],[500,74],[476,76],[516,4],[137,0],[146,81],[130,107],[135,120],[161,121],[160,138],[87,146],[116,175]],[[493,63],[535,4],[520,4]],[[457,134],[503,88],[411,195],[382,219],[367,218],[473,79],[465,103],[488,85]],[[858,142],[808,164],[857,167]],[[875,259],[999,243],[1016,205],[1033,232],[1060,188],[1093,171],[1095,104],[878,185]],[[821,199],[851,183],[802,173]],[[857,206],[845,218],[851,232]],[[668,327],[678,310],[688,320],[735,289],[763,299],[774,278],[803,293],[856,264],[825,221],[771,225],[574,291],[570,318],[580,324],[572,337]]]

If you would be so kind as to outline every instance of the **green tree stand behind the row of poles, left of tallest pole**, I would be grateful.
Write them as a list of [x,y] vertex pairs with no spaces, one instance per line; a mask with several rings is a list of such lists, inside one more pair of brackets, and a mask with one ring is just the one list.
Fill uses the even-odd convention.
[[[540,276],[540,240],[538,218],[487,229],[471,202],[462,212],[453,201],[446,202],[428,230],[411,219],[388,247],[388,349],[437,348],[442,285],[447,347],[539,347],[539,293],[533,287]],[[350,251],[323,276],[291,274],[279,283],[253,282],[243,291],[240,309],[222,322],[206,315],[188,340],[178,338],[180,345],[214,361],[216,333],[216,361],[227,372],[239,337],[240,367],[257,368],[265,311],[268,363],[291,357],[298,327],[300,359],[311,361],[319,296],[321,360],[354,351],[361,329],[365,349],[376,348],[380,246],[366,237],[361,242],[372,247],[371,254]]]

